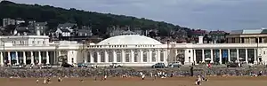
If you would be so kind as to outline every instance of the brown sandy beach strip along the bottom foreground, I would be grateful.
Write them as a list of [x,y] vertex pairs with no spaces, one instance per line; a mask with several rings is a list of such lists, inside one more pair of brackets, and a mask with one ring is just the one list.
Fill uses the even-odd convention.
[[[250,76],[228,76],[208,77],[208,82],[202,82],[201,86],[266,86],[267,77],[250,77]],[[53,78],[50,84],[43,84],[44,79],[36,78],[1,78],[0,86],[196,86],[194,84],[196,77],[174,77],[166,79],[146,78],[108,78],[106,81],[94,81],[93,78],[84,78],[80,82],[79,78],[64,78],[63,82],[57,82]]]

